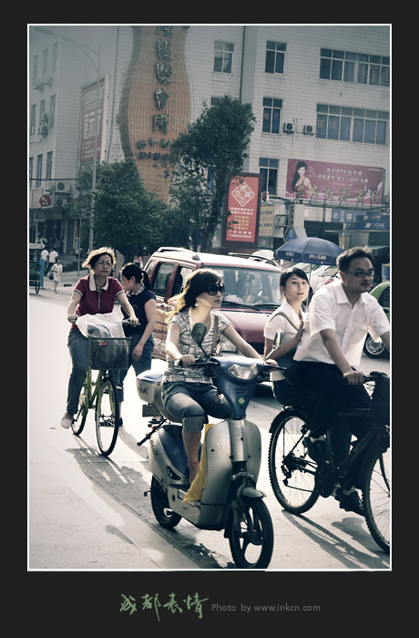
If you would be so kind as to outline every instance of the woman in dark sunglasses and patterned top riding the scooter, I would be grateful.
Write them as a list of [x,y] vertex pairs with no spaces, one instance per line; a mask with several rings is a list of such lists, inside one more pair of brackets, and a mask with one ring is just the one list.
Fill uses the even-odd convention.
[[[207,355],[212,354],[215,333],[215,339],[217,334],[227,337],[241,355],[261,358],[236,332],[230,321],[217,312],[223,293],[224,285],[218,273],[209,269],[196,270],[189,275],[183,291],[173,297],[175,308],[169,315],[166,340],[168,368],[163,377],[162,400],[169,413],[183,426],[189,483],[199,470],[199,443],[207,415],[220,419],[231,416],[228,402],[218,395],[211,377],[205,375],[202,367],[189,367],[201,353],[201,348],[192,340],[193,325],[202,322],[207,326],[201,345]],[[179,364],[175,365],[175,362]]]

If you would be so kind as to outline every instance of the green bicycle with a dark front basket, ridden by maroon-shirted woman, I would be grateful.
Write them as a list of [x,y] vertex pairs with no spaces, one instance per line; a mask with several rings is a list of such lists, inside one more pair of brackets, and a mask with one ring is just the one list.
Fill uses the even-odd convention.
[[[124,323],[124,322],[122,322]],[[95,409],[97,445],[108,457],[118,438],[120,406],[113,370],[128,367],[131,337],[87,337],[87,375],[81,389],[77,414],[71,428],[79,436],[86,424],[89,409]],[[96,381],[93,370],[97,370]]]

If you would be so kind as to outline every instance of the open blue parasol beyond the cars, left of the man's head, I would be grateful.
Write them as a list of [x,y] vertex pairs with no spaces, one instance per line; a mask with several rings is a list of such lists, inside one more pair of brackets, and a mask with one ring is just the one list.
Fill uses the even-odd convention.
[[283,243],[273,256],[293,262],[332,264],[336,263],[336,257],[341,252],[342,248],[320,237],[297,237]]

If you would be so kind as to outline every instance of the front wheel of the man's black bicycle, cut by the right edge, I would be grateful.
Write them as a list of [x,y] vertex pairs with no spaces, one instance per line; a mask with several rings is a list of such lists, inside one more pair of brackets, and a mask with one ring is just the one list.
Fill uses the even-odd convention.
[[363,509],[373,540],[390,553],[390,449],[373,449],[363,464]]

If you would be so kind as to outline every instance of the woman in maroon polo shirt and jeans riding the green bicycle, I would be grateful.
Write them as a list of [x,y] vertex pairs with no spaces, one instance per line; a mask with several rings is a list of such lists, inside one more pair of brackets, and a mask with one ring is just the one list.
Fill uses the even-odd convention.
[[68,380],[66,414],[61,419],[61,426],[71,426],[77,413],[81,388],[86,378],[88,355],[87,337],[81,334],[75,322],[84,314],[107,314],[114,309],[118,299],[121,308],[128,314],[129,323],[136,325],[137,316],[122,285],[118,279],[110,276],[115,266],[115,254],[110,248],[102,247],[90,252],[83,268],[89,268],[87,277],[81,277],[71,293],[67,306],[67,321],[72,324],[68,334],[68,349],[72,360],[72,371]]

